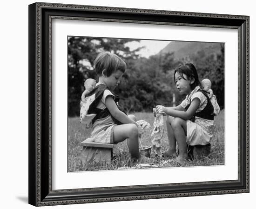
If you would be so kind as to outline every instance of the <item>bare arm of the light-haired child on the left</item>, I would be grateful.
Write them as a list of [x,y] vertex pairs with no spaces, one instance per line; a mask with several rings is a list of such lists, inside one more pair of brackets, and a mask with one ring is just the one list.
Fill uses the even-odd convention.
[[122,124],[136,124],[136,122],[134,120],[132,120],[131,118],[128,118],[128,116],[125,113],[123,113],[122,111],[120,111],[118,109],[118,107],[116,106],[115,101],[112,97],[106,98],[106,106],[107,106],[110,114],[115,119],[120,121]]

